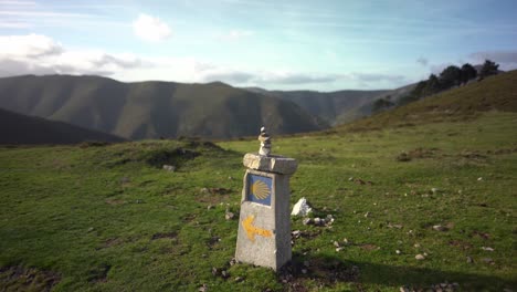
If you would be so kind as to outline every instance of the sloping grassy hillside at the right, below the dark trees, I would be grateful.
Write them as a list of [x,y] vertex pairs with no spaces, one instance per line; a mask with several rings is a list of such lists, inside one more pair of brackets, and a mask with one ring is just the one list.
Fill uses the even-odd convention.
[[481,82],[453,88],[428,98],[387,111],[345,129],[381,128],[430,122],[472,119],[482,112],[517,112],[517,71],[502,73]]

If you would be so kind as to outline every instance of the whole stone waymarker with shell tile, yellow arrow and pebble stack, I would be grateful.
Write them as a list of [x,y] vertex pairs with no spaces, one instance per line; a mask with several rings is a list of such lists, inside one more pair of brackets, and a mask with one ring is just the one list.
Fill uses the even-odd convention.
[[271,155],[271,138],[262,127],[258,154],[244,155],[235,259],[278,270],[291,260],[289,177],[293,158]]

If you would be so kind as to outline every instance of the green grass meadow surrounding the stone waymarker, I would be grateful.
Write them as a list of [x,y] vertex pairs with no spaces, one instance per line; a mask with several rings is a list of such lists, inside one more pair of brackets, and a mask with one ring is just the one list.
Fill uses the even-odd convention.
[[[257,150],[256,140],[219,143],[222,148],[171,140],[4,147],[0,286],[198,291],[207,284],[209,291],[283,291],[296,284],[309,291],[398,291],[449,281],[462,291],[515,289],[516,124],[515,113],[488,112],[469,122],[273,137],[275,154],[299,161],[292,204],[306,197],[318,216],[336,218],[331,228],[293,218],[293,229],[312,237],[295,241],[294,261],[310,265],[291,283],[265,268],[229,264],[239,222],[226,221],[224,213],[239,212],[242,156]],[[188,159],[178,148],[199,156]],[[402,152],[413,158],[399,161]],[[178,170],[168,173],[160,164]],[[434,231],[434,225],[450,229]],[[336,252],[333,241],[344,238],[350,243]],[[425,260],[414,259],[424,252]],[[212,275],[212,268],[230,278]]]

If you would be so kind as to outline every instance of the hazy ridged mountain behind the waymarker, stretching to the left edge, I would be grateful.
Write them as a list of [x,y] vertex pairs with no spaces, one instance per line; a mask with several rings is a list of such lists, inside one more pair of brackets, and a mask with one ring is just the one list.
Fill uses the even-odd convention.
[[98,76],[0,79],[0,107],[131,139],[228,138],[320,129],[299,106],[223,83],[120,83]]

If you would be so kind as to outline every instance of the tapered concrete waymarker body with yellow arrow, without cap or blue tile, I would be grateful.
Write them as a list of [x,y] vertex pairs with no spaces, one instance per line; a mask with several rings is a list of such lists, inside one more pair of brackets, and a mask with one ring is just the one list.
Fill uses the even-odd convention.
[[[271,205],[250,201],[249,176],[272,179]],[[235,259],[278,270],[292,258],[289,177],[249,169],[244,175]]]

